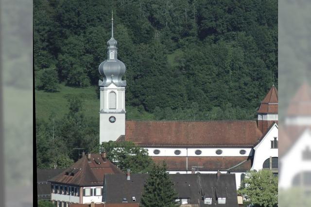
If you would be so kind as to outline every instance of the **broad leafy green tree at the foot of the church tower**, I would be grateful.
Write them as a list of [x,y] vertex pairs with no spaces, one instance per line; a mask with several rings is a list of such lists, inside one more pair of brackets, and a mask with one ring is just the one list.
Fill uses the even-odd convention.
[[133,173],[147,173],[150,170],[152,159],[148,151],[132,142],[104,142],[102,150],[107,153],[107,158],[114,162],[122,171],[128,169]]

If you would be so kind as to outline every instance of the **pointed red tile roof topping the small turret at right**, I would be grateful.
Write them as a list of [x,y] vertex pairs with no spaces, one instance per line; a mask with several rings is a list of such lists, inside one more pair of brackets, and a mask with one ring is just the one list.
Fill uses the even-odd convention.
[[273,85],[268,94],[261,101],[258,113],[277,113],[278,111],[278,97],[277,89]]

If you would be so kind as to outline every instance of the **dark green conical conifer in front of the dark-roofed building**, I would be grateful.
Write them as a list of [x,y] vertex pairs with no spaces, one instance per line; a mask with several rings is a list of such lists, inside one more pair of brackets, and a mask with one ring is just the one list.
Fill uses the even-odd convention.
[[166,172],[166,164],[154,164],[145,181],[142,192],[141,207],[174,207],[177,193],[173,181]]

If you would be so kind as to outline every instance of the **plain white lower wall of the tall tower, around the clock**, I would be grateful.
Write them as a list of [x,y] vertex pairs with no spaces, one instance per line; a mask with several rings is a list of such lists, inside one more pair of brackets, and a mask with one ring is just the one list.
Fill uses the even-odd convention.
[[[110,116],[116,117],[115,123],[109,122]],[[116,141],[121,135],[125,135],[125,113],[100,113],[100,143]]]

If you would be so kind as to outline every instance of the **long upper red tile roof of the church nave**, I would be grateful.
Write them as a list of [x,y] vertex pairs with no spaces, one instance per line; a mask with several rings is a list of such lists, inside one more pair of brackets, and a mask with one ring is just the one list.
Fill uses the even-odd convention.
[[245,146],[262,136],[256,121],[126,121],[125,137],[140,146]]

